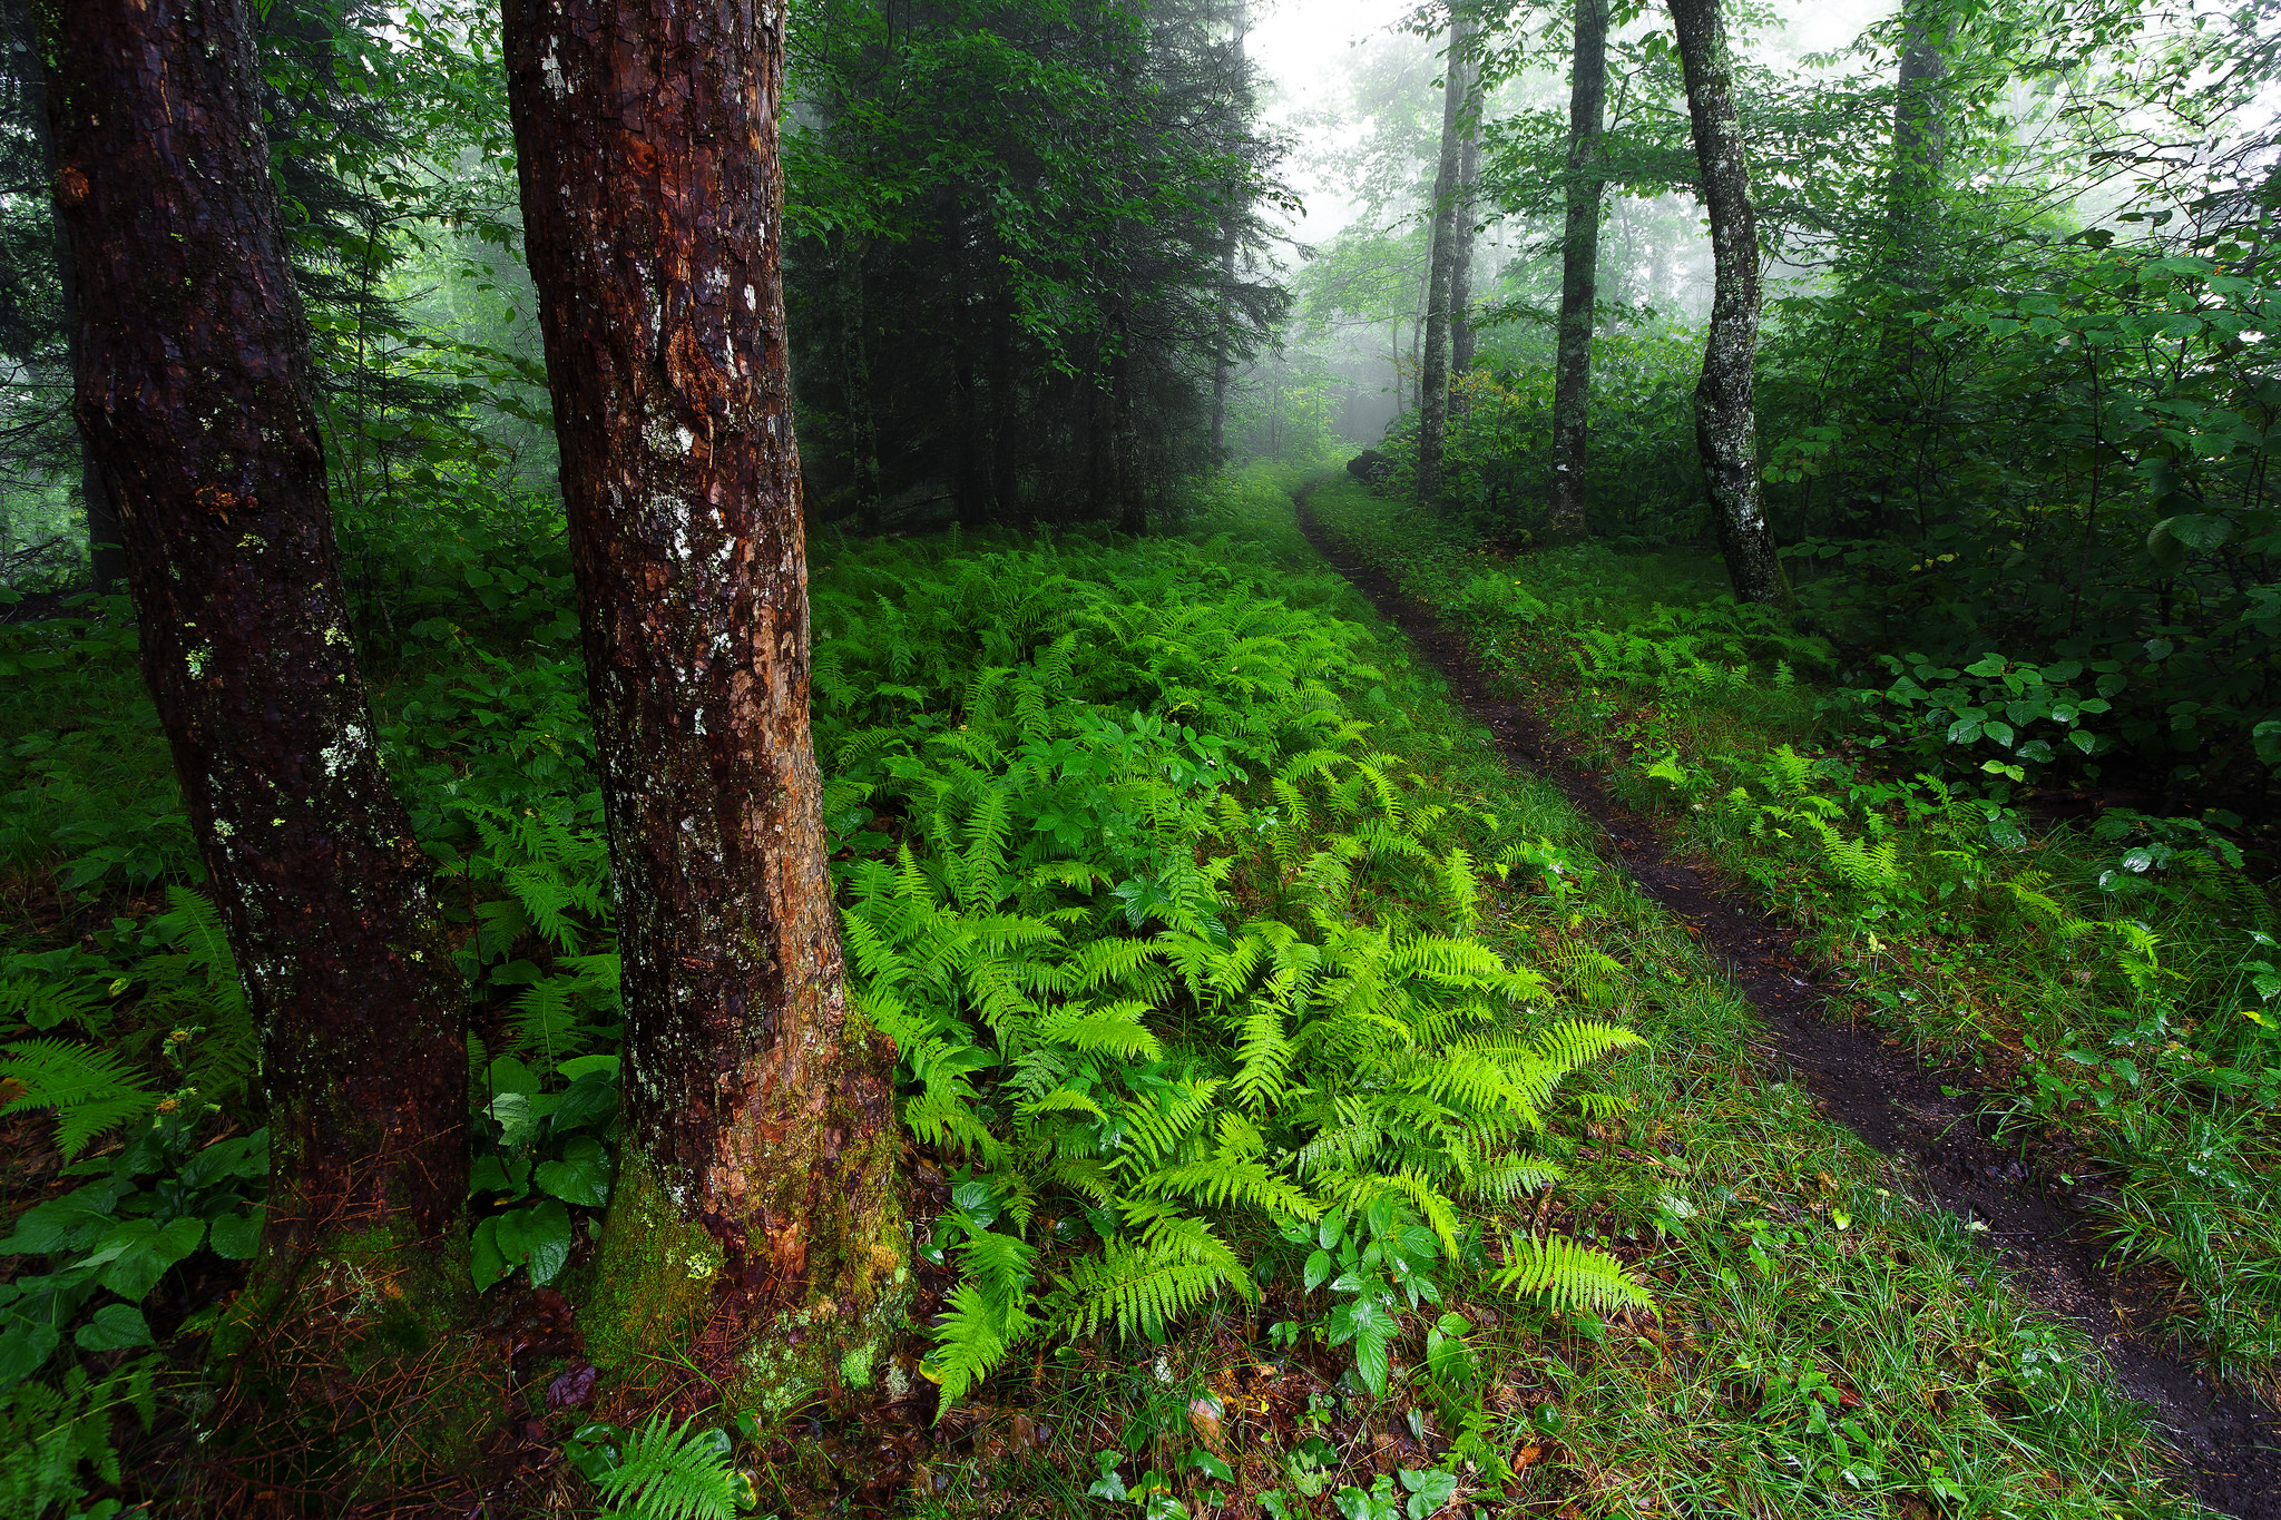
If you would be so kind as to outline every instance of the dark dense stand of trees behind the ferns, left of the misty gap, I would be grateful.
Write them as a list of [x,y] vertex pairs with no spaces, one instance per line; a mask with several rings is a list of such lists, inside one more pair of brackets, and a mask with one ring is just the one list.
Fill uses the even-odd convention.
[[1161,522],[1213,369],[1284,310],[1243,0],[792,18],[803,463],[821,522]]

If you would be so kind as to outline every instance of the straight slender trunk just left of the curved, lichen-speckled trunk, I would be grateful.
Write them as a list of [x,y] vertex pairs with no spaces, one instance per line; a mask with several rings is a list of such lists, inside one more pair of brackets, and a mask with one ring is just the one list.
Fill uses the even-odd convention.
[[1569,71],[1567,232],[1560,239],[1560,353],[1553,360],[1553,492],[1547,536],[1590,531],[1592,308],[1599,301],[1601,116],[1608,105],[1608,0],[1576,0]]

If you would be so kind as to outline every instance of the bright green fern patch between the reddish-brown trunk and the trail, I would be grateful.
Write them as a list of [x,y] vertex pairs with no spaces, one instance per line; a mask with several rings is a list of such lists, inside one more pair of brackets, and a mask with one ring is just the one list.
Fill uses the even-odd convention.
[[[1040,1331],[1252,1297],[1245,1242],[1332,1208],[1398,1206],[1455,1258],[1469,1212],[1558,1176],[1531,1144],[1556,1087],[1635,1041],[1551,1019],[1474,937],[1487,871],[1355,718],[1359,631],[1177,549],[1129,565],[821,599],[851,1003],[969,1169],[947,1397]],[[1556,1285],[1624,1281],[1574,1249],[1601,1276]]]

